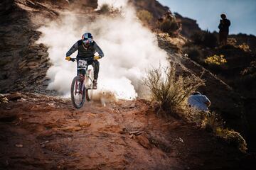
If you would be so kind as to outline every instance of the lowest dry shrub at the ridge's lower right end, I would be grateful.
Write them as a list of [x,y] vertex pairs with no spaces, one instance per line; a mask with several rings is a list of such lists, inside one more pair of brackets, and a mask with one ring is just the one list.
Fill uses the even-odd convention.
[[218,128],[215,135],[223,139],[225,142],[228,142],[230,145],[238,147],[241,152],[246,152],[247,144],[245,139],[240,135],[239,132],[234,130],[228,130],[223,128]]

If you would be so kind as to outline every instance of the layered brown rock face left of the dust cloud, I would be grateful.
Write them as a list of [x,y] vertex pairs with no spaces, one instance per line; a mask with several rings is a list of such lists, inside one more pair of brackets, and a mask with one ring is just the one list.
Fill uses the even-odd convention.
[[37,29],[45,24],[46,19],[57,18],[60,11],[74,8],[83,12],[93,11],[97,8],[97,1],[1,1],[0,93],[45,93],[50,62],[48,47],[36,43],[41,35]]

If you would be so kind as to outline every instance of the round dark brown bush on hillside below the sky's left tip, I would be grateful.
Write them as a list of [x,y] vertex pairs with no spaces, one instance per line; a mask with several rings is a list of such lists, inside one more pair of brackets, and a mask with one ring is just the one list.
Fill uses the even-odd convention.
[[164,33],[168,33],[169,35],[173,35],[176,31],[179,30],[178,23],[176,19],[166,19],[163,22],[159,23],[159,28]]

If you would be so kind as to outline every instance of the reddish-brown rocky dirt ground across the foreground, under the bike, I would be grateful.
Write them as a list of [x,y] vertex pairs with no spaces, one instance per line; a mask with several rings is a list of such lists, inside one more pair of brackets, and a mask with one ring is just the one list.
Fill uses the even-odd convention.
[[91,102],[75,110],[61,98],[18,98],[0,104],[0,169],[252,166],[247,156],[195,125],[156,118],[146,101],[118,101],[105,107]]

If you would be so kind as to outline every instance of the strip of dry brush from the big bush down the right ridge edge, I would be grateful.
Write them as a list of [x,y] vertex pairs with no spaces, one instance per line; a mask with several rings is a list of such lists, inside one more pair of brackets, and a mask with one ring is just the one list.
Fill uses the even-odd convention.
[[238,147],[241,152],[246,152],[245,139],[239,132],[224,128],[225,123],[220,115],[214,112],[198,111],[196,108],[187,106],[188,96],[199,86],[204,85],[200,77],[177,76],[175,65],[171,65],[164,70],[161,67],[151,69],[147,72],[144,84],[151,91],[152,101],[155,101],[167,115],[178,115],[188,122],[196,123],[201,128],[213,132],[216,137]]

